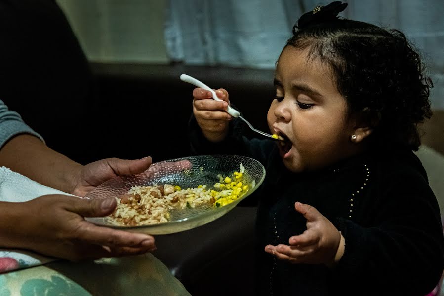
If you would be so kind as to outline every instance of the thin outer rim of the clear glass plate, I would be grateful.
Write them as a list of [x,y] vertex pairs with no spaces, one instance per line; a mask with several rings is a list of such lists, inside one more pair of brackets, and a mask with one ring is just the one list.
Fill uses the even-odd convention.
[[[251,158],[251,157],[247,157],[247,156],[242,156],[242,155],[235,155],[235,154],[232,154],[232,155],[227,155],[227,154],[214,154],[214,155],[212,155],[212,154],[207,154],[207,155],[195,155],[195,156],[188,156],[188,157],[180,157],[180,158],[174,158],[174,159],[168,159],[168,160],[162,160],[162,161],[159,161],[159,162],[156,162],[156,163],[153,163],[153,164],[160,164],[160,163],[167,163],[167,162],[177,162],[177,161],[181,161],[181,160],[189,160],[190,158],[199,158],[199,157],[223,157],[223,156],[235,156],[235,157],[242,157],[242,158],[244,158],[244,159],[251,159],[253,162],[256,162],[257,164],[259,164],[259,166],[260,166],[260,168],[261,168],[261,170],[262,170],[262,177],[260,178],[260,180],[259,181],[257,181],[256,182],[256,185],[254,186],[254,188],[251,188],[248,192],[247,192],[247,194],[245,194],[245,195],[243,195],[241,198],[238,198],[237,200],[235,200],[235,201],[233,201],[232,203],[230,203],[230,204],[228,204],[228,205],[226,205],[226,206],[223,206],[223,207],[219,207],[219,208],[214,208],[214,211],[225,211],[226,213],[228,213],[231,209],[233,209],[239,202],[241,202],[243,199],[245,199],[246,197],[248,197],[248,196],[250,196],[251,194],[253,194],[253,192],[254,191],[256,191],[256,189],[257,188],[259,188],[259,186],[262,184],[262,182],[264,181],[264,179],[265,179],[265,174],[266,174],[266,171],[265,171],[265,167],[262,165],[262,163],[260,163],[258,160],[256,160],[256,159],[254,159],[254,158]],[[137,174],[136,174],[137,175]],[[117,177],[115,177],[115,178],[118,178],[119,176],[117,176]],[[110,180],[108,180],[108,181],[111,181],[111,180],[114,180],[115,178],[113,178],[113,179],[110,179]],[[104,185],[105,183],[107,183],[108,181],[105,181],[104,183],[102,183],[101,185]],[[101,186],[101,185],[99,185],[99,186]],[[97,186],[98,187],[98,186]],[[96,188],[97,188],[96,187]],[[95,189],[95,188],[94,188]],[[94,190],[93,189],[93,190]],[[92,192],[93,190],[91,190],[90,192]],[[88,194],[90,193],[90,192],[88,192]],[[87,194],[87,195],[88,195]],[[85,196],[85,198],[87,198],[87,195]],[[225,213],[225,214],[226,214]],[[200,220],[200,219],[202,219],[202,218],[204,218],[204,217],[208,217],[208,216],[212,216],[212,215],[214,215],[214,212],[213,211],[204,211],[204,212],[202,212],[202,214],[200,214],[200,215],[196,215],[196,216],[193,216],[193,217],[190,217],[190,218],[182,218],[182,219],[179,219],[179,220],[174,220],[174,221],[171,221],[171,222],[164,222],[164,223],[157,223],[157,224],[151,224],[151,225],[137,225],[137,226],[130,226],[130,225],[125,225],[125,226],[120,226],[120,225],[113,225],[113,224],[100,224],[100,226],[106,226],[106,227],[110,227],[110,228],[114,228],[114,229],[120,229],[120,230],[134,230],[134,229],[141,229],[141,228],[144,228],[144,229],[149,229],[149,228],[156,228],[156,227],[159,227],[160,225],[165,225],[165,224],[167,224],[167,225],[174,225],[174,224],[180,224],[180,223],[182,223],[182,222],[185,222],[185,221],[187,221],[187,222],[190,222],[190,221],[194,221],[194,220]]]

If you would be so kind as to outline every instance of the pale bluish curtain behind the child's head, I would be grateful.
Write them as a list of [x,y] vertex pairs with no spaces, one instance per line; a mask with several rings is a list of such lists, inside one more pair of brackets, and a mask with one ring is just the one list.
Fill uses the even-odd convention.
[[[403,31],[423,53],[444,109],[444,1],[349,0],[340,15]],[[168,57],[191,65],[273,69],[298,17],[316,0],[168,0]]]

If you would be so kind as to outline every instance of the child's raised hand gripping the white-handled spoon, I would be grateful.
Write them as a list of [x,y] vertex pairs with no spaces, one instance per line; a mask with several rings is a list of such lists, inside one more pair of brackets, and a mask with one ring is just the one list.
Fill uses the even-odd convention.
[[223,101],[211,99],[211,92],[203,88],[193,90],[193,112],[203,135],[211,142],[220,142],[228,134],[229,121],[233,117],[226,112],[230,101],[225,89],[216,90],[217,97]]

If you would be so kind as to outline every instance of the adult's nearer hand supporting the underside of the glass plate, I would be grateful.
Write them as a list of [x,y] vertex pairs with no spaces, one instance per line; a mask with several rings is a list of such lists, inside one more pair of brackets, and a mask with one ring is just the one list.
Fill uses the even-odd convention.
[[45,195],[9,204],[14,207],[11,210],[15,220],[2,239],[4,247],[30,249],[72,261],[136,255],[156,249],[150,235],[100,227],[83,219],[112,213],[116,207],[114,198],[86,200]]

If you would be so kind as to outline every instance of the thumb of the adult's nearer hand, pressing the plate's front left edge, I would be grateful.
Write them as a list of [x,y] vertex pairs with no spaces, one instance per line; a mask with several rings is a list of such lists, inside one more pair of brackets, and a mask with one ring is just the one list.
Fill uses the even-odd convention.
[[72,212],[83,217],[102,217],[107,216],[116,208],[117,202],[114,197],[106,199],[78,199]]

